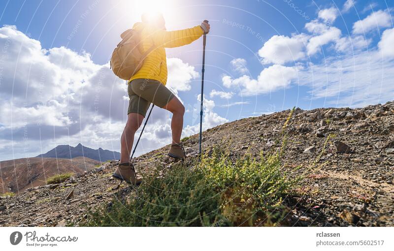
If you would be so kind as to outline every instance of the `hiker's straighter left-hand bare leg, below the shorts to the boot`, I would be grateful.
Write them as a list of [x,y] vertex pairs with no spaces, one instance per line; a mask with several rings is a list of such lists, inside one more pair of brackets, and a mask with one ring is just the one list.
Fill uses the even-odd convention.
[[129,113],[125,129],[120,138],[120,162],[129,162],[134,134],[141,126],[144,116],[138,113]]

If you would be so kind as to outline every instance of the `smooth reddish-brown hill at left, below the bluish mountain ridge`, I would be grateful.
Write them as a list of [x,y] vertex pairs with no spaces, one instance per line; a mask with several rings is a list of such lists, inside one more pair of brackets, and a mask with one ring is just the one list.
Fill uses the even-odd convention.
[[0,162],[0,193],[22,192],[46,184],[46,179],[61,173],[84,173],[100,161],[88,157],[67,158],[18,158]]

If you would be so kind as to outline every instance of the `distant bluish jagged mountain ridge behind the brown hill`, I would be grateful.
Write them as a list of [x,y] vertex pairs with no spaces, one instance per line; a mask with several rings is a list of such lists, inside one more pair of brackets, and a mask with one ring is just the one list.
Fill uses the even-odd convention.
[[36,157],[57,157],[57,158],[74,158],[74,157],[88,157],[101,162],[107,160],[120,159],[120,153],[115,151],[104,150],[101,147],[99,149],[92,149],[83,146],[81,143],[72,147],[70,145],[59,145],[54,149],[48,151],[45,154],[38,155]]

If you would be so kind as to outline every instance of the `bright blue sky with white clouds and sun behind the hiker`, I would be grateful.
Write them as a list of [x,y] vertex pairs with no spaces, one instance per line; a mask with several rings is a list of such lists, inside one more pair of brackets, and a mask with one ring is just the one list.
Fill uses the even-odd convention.
[[[144,10],[167,30],[208,19],[204,128],[289,109],[393,100],[393,3],[386,0],[0,1],[0,160],[79,142],[119,151],[126,86],[108,61]],[[202,38],[166,49],[169,88],[198,128]],[[170,143],[154,110],[137,154]]]

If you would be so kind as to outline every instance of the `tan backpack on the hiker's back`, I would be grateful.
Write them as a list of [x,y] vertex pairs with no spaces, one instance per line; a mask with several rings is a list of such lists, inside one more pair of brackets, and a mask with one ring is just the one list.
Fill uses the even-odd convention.
[[129,80],[141,68],[145,57],[153,50],[153,46],[145,53],[141,53],[139,50],[140,34],[132,29],[123,32],[120,37],[122,41],[112,53],[110,68],[116,76]]

